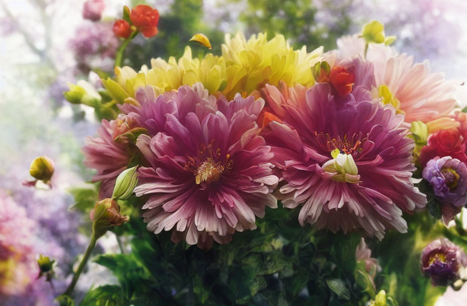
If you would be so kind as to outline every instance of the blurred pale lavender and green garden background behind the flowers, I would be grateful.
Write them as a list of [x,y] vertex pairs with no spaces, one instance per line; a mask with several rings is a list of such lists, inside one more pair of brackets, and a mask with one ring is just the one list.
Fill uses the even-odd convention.
[[[69,208],[75,202],[72,188],[93,175],[83,167],[80,148],[85,136],[94,135],[98,127],[91,108],[69,104],[62,93],[67,82],[83,78],[99,82],[92,69],[112,71],[119,46],[112,24],[123,5],[147,3],[161,13],[159,35],[150,40],[140,35],[127,48],[125,64],[133,67],[148,64],[151,57],[181,56],[190,37],[200,32],[209,37],[217,54],[224,33],[238,30],[247,37],[260,31],[281,33],[295,47],[304,44],[313,50],[323,45],[329,50],[338,37],[379,20],[387,35],[398,37],[395,46],[401,52],[413,54],[416,61],[430,60],[433,70],[445,71],[448,78],[467,79],[465,0],[105,2],[103,21],[93,23],[82,17],[84,0],[0,0],[0,189],[25,209],[19,224],[28,224],[34,251],[55,258],[62,276],[69,274],[87,244],[87,236],[79,231],[83,217]],[[205,52],[191,46],[194,55]],[[51,191],[21,184],[30,179],[30,162],[41,155],[56,163]],[[109,235],[100,247],[116,248],[115,238]],[[80,280],[83,289],[100,278],[110,282],[111,276],[91,267],[88,278]],[[45,299],[51,295],[48,286],[36,289]]]

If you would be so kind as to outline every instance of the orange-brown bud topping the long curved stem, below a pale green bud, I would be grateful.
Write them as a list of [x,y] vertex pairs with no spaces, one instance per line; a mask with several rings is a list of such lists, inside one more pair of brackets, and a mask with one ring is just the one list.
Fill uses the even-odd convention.
[[90,217],[94,220],[93,231],[98,237],[104,235],[109,228],[120,226],[130,219],[128,216],[121,215],[117,201],[109,198],[97,202]]

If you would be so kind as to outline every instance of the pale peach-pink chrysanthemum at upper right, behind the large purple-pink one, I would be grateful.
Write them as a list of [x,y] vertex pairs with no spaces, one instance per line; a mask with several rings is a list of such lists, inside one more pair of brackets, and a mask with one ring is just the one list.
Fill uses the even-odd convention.
[[[365,42],[357,35],[345,36],[337,45],[334,53],[341,59],[364,58]],[[406,122],[428,122],[454,109],[456,83],[445,80],[442,73],[432,73],[429,61],[414,64],[413,56],[398,54],[383,44],[370,44],[366,61],[374,66],[375,88],[384,85],[391,91],[400,102]]]

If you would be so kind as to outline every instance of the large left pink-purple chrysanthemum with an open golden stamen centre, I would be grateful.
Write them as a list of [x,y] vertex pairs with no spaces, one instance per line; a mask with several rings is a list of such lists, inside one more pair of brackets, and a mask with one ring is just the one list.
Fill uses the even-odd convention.
[[216,100],[201,84],[158,97],[147,87],[136,99],[140,107],[124,109],[150,134],[136,142],[150,167],[139,169],[135,188],[150,195],[149,231],[173,229],[175,242],[209,249],[213,239],[227,243],[235,231],[256,228],[265,206],[277,207],[274,155],[256,124],[262,99]]

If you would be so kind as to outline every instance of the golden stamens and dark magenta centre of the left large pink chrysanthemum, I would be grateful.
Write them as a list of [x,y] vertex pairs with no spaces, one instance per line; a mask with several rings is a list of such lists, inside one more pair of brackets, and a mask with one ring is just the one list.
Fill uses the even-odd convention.
[[198,157],[188,157],[185,169],[193,172],[196,184],[212,183],[220,179],[222,173],[232,169],[233,163],[229,160],[230,155],[221,155],[220,148],[215,140],[207,146],[202,144]]

